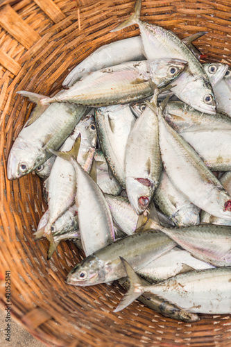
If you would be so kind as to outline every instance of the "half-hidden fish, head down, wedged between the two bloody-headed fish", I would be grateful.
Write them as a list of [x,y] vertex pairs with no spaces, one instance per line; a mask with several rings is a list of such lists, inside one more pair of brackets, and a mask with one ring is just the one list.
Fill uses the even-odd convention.
[[155,204],[176,226],[200,224],[200,210],[179,192],[166,171],[162,171],[160,183],[154,194]]

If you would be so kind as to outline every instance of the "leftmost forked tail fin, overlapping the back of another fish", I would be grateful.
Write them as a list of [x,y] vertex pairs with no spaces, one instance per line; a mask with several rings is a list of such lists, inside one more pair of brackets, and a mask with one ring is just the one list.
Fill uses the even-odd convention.
[[46,108],[49,107],[49,104],[44,105],[42,103],[42,100],[44,99],[50,99],[49,96],[37,94],[37,93],[32,93],[32,92],[26,92],[25,90],[20,90],[17,92],[17,94],[20,94],[22,96],[25,96],[28,98],[30,101],[33,103],[36,103],[36,106],[31,114],[31,117],[28,119],[26,126],[30,126],[31,124],[38,119],[44,111],[46,111]]

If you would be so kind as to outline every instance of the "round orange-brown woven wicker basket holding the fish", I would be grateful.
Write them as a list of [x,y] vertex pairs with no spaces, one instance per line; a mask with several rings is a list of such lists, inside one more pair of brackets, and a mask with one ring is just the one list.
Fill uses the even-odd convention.
[[[35,174],[9,182],[6,160],[33,104],[17,90],[51,95],[68,69],[102,44],[139,34],[137,26],[110,33],[128,18],[129,0],[0,0],[1,112],[1,303],[6,307],[5,273],[10,270],[11,313],[47,346],[231,346],[231,316],[201,316],[182,323],[155,314],[137,301],[114,314],[121,288],[65,284],[82,255],[71,242],[47,262],[48,244],[33,241],[33,228],[46,210]],[[181,38],[208,31],[196,45],[207,60],[231,62],[230,0],[144,0],[142,19]]]

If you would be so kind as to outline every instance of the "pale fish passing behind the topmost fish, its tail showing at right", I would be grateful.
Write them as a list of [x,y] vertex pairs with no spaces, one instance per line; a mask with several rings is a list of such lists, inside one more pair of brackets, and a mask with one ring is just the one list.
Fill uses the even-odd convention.
[[[194,55],[196,55],[198,59],[200,58],[201,53],[193,44],[191,44],[191,42],[197,40],[206,33],[207,32],[202,31],[190,35],[182,40],[187,46],[189,46],[189,49],[193,51]],[[80,62],[71,70],[71,72],[69,72],[63,81],[62,86],[66,88],[71,87],[89,72],[119,65],[122,62],[132,62],[137,60],[146,60],[144,56],[142,37],[140,35],[111,42],[110,44],[103,44],[103,46],[96,49],[96,51],[90,54],[85,60],[83,60],[83,62]]]

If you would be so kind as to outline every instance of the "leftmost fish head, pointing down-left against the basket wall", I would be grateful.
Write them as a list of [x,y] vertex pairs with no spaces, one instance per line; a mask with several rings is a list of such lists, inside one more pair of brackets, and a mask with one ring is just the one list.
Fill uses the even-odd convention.
[[15,140],[7,163],[8,180],[15,180],[35,170],[44,162],[41,148],[31,142]]

